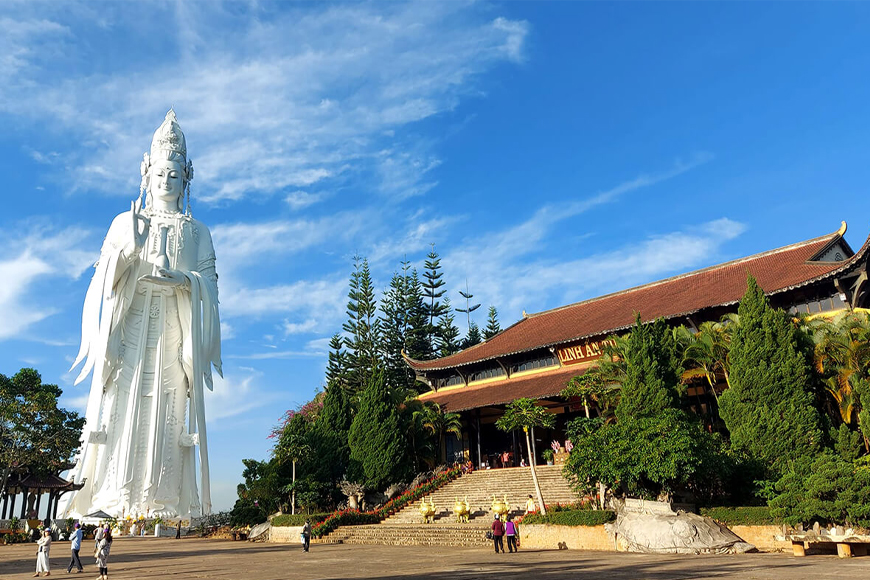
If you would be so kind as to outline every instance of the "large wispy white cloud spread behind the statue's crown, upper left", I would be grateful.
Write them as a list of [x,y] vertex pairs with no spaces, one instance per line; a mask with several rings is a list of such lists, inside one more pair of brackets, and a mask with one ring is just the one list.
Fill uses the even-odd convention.
[[[466,3],[315,5],[302,12],[209,2],[107,6],[101,15],[114,34],[167,21],[177,34],[151,45],[152,58],[84,75],[75,66],[45,70],[45,55],[90,58],[81,40],[98,33],[92,19],[64,19],[36,5],[2,21],[9,34],[0,41],[0,74],[10,82],[0,86],[0,114],[62,128],[85,145],[57,164],[60,171],[79,168],[65,175],[74,189],[135,194],[135,171],[114,168],[138,167],[173,105],[194,157],[199,202],[341,185],[361,174],[380,176],[371,193],[425,193],[435,183],[427,173],[440,161],[425,149],[409,152],[402,132],[480,94],[479,73],[521,61],[528,35],[527,23]],[[219,40],[230,27],[232,42]],[[291,206],[313,203],[285,195]]]

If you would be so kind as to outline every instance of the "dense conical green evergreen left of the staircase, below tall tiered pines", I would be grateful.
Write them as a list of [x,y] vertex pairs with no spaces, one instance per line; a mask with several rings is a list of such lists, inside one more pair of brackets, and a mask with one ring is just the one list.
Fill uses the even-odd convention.
[[370,377],[363,391],[348,443],[348,475],[366,489],[383,490],[407,477],[410,468],[405,453],[407,445],[382,371]]

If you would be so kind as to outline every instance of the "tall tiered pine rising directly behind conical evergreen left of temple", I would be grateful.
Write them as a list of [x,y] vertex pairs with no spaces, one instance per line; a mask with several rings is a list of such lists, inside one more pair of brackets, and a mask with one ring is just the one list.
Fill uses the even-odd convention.
[[354,271],[350,277],[348,292],[348,320],[343,329],[347,333],[348,383],[355,391],[361,391],[367,377],[378,364],[380,322],[376,318],[377,302],[367,259],[354,257]]

